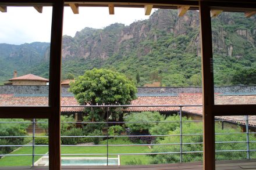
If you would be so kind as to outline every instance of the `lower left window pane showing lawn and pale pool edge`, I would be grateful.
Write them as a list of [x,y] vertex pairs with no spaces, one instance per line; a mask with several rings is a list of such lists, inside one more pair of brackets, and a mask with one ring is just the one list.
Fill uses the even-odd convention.
[[48,165],[46,120],[0,119],[0,168]]

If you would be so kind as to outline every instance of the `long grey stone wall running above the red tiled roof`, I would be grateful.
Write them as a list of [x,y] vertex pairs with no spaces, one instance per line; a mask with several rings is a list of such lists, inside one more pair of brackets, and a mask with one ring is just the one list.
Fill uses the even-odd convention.
[[[63,96],[72,96],[67,86],[62,87]],[[0,86],[0,94],[48,94],[48,85]],[[215,93],[251,93],[256,92],[256,85],[232,85],[215,87]],[[202,93],[201,87],[138,87],[138,93]]]

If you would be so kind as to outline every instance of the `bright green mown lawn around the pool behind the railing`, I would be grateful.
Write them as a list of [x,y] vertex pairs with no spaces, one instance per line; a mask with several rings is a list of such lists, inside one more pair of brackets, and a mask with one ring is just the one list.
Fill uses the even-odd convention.
[[[109,144],[131,144],[128,139],[109,139]],[[99,144],[106,144],[106,140]],[[109,146],[109,154],[115,153],[147,153],[150,149],[147,146]],[[62,154],[106,154],[106,146],[62,146]],[[45,154],[48,152],[48,147],[35,147],[35,154]],[[13,151],[12,154],[32,154],[32,147],[21,147]],[[41,156],[35,156],[37,161]],[[64,157],[64,156],[63,156]],[[70,157],[70,156],[65,156]],[[106,157],[105,155],[86,155],[86,156],[72,156],[72,157]],[[118,157],[111,155],[109,157]],[[148,164],[150,157],[147,155],[136,155],[136,160],[140,160],[141,164]],[[121,165],[126,165],[127,162],[134,161],[134,155],[120,155]],[[12,166],[30,166],[32,164],[32,156],[7,156],[0,159],[0,167]]]

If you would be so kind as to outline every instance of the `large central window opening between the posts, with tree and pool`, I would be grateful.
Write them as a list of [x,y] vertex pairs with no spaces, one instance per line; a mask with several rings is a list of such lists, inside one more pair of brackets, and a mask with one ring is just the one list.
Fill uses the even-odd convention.
[[[107,14],[108,8],[80,7],[79,15],[65,8],[61,111],[62,124],[70,125],[62,131],[62,165],[70,157],[69,165],[95,157],[101,165],[202,160],[198,12],[178,17],[177,10],[154,9],[144,16],[144,9],[115,8]],[[137,92],[130,85],[123,91],[120,77]],[[200,131],[193,136],[195,126]]]

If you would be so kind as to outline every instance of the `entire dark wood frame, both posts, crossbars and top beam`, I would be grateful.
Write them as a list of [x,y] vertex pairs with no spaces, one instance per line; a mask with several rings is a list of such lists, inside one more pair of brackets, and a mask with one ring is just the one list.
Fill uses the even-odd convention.
[[[45,107],[0,107],[0,118],[48,118],[49,119],[49,169],[61,169],[60,151],[60,113],[61,113],[61,47],[63,7],[76,0],[0,0],[0,6],[53,6],[51,52],[49,67],[49,106]],[[108,6],[108,2],[116,3],[116,7],[144,7],[153,4],[154,8],[176,8],[177,5],[189,5],[191,9],[200,9],[201,57],[203,82],[203,121],[204,121],[204,169],[215,169],[215,135],[214,117],[217,115],[253,115],[256,105],[215,105],[214,82],[211,72],[212,32],[210,10],[224,9],[248,11],[256,9],[254,0],[101,0],[87,1],[81,6]],[[128,3],[129,2],[129,3]]]

